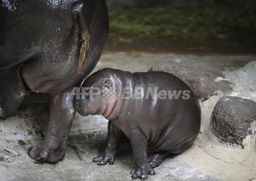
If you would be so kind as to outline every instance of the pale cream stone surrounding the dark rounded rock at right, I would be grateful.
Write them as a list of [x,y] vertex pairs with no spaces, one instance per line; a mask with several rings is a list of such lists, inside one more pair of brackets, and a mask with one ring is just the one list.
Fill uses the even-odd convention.
[[[232,88],[234,90],[229,96],[241,96],[242,98],[249,98],[256,102],[255,96],[253,96],[255,94],[256,84],[252,82],[253,80],[255,82],[256,78],[255,63],[255,61],[251,61],[241,69],[226,72],[226,77],[232,82]],[[243,149],[241,149],[241,146],[220,143],[210,132],[209,127],[212,111],[221,97],[223,95],[212,96],[208,100],[200,102],[202,124],[194,144],[199,145],[204,151],[200,152],[198,150],[199,154],[197,156],[197,149],[190,149],[193,157],[190,157],[189,154],[182,154],[180,157],[183,157],[183,159],[186,157],[184,160],[189,165],[197,167],[198,170],[209,175],[218,175],[218,178],[222,180],[233,180],[234,177],[236,177],[236,180],[255,180],[256,133],[254,135],[247,135],[243,139]],[[206,157],[204,158],[204,156]],[[200,161],[195,162],[195,160],[198,161],[201,159],[208,164],[200,164]],[[224,170],[224,172],[220,172],[221,170]],[[222,175],[222,173],[224,174]]]

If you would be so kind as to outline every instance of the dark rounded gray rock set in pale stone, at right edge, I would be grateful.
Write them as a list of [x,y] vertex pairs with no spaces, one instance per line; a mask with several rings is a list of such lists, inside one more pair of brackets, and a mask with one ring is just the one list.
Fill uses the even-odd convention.
[[223,96],[212,111],[210,131],[219,142],[243,148],[243,139],[256,133],[256,103]]

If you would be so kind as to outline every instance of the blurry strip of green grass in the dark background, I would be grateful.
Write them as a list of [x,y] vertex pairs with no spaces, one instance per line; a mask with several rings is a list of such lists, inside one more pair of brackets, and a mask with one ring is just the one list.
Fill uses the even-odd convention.
[[109,40],[133,42],[135,39],[182,37],[234,41],[236,28],[256,30],[256,15],[215,8],[123,8],[110,9]]

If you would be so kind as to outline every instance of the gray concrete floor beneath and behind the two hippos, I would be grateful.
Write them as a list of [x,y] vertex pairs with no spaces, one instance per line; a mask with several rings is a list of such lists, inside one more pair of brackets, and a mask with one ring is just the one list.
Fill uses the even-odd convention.
[[[145,72],[154,63],[177,56],[210,62],[229,71],[256,60],[255,56],[112,53],[102,55],[95,70],[100,67],[113,67],[131,72]],[[48,97],[32,95],[16,114],[5,121],[0,120],[0,180],[131,180],[130,172],[135,163],[129,142],[120,143],[114,165],[99,166],[92,162],[103,150],[106,140],[108,121],[99,116],[81,117],[76,114],[66,156],[62,161],[47,164],[30,159],[27,150],[32,145],[42,145],[44,141],[44,137],[40,135],[44,135],[49,119]],[[189,150],[200,149],[194,144],[180,155],[169,156],[155,168],[156,175],[150,175],[147,180],[219,180],[222,178],[219,177],[221,174],[229,174],[225,170],[216,172],[217,174],[206,171],[203,173],[204,170],[200,172],[197,166],[191,167],[181,159]],[[204,164],[204,161],[201,160],[201,163]],[[208,167],[218,170],[216,165]],[[230,180],[231,178],[236,180],[235,175],[230,175]]]

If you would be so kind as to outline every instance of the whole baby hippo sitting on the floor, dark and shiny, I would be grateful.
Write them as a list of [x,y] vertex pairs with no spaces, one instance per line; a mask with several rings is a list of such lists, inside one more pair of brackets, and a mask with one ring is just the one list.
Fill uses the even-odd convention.
[[93,161],[112,165],[117,144],[125,134],[136,162],[133,179],[154,175],[153,168],[166,156],[183,152],[198,135],[198,99],[172,74],[103,69],[88,77],[81,91],[83,96],[75,100],[75,110],[82,116],[103,115],[109,120],[105,150]]

